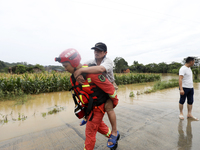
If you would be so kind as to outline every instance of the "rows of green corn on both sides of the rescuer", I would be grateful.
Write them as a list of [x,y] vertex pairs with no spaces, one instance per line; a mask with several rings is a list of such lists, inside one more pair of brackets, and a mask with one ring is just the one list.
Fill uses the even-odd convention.
[[[160,80],[156,74],[115,74],[118,85]],[[69,73],[0,74],[0,99],[7,96],[68,91]]]

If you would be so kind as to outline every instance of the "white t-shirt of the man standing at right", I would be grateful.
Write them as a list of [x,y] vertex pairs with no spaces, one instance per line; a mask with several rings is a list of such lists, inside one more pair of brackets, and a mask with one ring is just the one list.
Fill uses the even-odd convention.
[[193,76],[190,67],[182,66],[179,70],[179,75],[183,76],[182,87],[193,88]]

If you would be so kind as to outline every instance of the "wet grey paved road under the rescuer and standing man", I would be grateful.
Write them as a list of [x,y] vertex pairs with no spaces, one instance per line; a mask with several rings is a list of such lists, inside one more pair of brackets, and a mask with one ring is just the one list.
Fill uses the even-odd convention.
[[[154,93],[155,94],[155,93]],[[167,93],[166,93],[167,94]],[[133,101],[117,106],[117,127],[121,135],[117,150],[199,150],[200,121],[178,118],[178,100]],[[200,101],[193,115],[200,117]],[[107,115],[104,121],[109,126]],[[85,126],[80,120],[0,142],[0,150],[82,150]],[[107,139],[97,134],[95,150],[109,149]]]

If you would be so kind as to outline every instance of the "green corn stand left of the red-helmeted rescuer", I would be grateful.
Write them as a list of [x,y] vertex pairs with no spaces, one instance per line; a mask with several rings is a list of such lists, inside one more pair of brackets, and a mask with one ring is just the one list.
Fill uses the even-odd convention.
[[0,75],[0,99],[6,96],[67,91],[71,88],[69,73]]

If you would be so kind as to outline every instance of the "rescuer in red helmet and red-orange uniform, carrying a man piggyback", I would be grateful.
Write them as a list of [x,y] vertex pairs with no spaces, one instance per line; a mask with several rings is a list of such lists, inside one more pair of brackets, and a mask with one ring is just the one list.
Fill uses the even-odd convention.
[[[83,83],[81,88],[79,83],[75,80],[73,73],[82,68],[82,65],[80,64],[80,54],[75,49],[67,49],[63,51],[58,58],[55,59],[56,61],[59,61],[62,63],[62,65],[65,67],[65,70],[70,72],[72,74],[71,76],[71,84],[76,91],[75,94],[78,97],[77,93],[80,89],[85,91],[86,93],[92,93],[92,110],[86,115],[88,118],[88,122],[86,124],[85,129],[85,147],[84,150],[93,150],[96,142],[96,133],[97,131],[103,135],[105,135],[107,138],[110,138],[111,136],[111,130],[108,128],[108,126],[103,121],[103,116],[105,113],[105,102],[108,99],[108,95],[110,99],[113,102],[113,108],[116,107],[118,104],[118,98],[115,91],[114,86],[111,84],[111,82],[105,78],[102,74],[86,74],[85,75],[85,82]],[[75,82],[73,81],[75,80]],[[89,88],[87,88],[89,87]],[[104,94],[102,94],[102,91]],[[98,94],[101,93],[101,94]],[[96,94],[96,95],[95,95]],[[91,98],[91,97],[90,97]],[[98,102],[103,102],[99,103]],[[90,104],[91,100],[89,100]],[[84,104],[86,109],[88,110],[89,105]],[[117,136],[112,137],[112,142],[114,144],[117,143],[117,140],[119,140],[119,132],[117,133]]]

